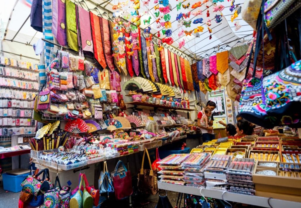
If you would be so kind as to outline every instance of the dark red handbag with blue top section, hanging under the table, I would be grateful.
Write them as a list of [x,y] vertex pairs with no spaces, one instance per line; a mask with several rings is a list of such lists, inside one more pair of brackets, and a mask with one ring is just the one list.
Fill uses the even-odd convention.
[[[122,167],[118,169],[119,165]],[[118,169],[118,170],[117,170]],[[119,160],[112,173],[116,199],[120,200],[133,194],[132,175],[124,163]]]

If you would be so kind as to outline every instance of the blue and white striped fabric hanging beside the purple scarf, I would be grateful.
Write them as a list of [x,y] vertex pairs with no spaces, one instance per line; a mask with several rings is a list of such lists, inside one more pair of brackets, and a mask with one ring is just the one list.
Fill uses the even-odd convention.
[[[51,4],[52,4],[51,0],[43,0],[43,9],[42,9],[43,38],[53,42],[54,37],[52,34],[52,5]],[[45,42],[44,52],[45,52],[46,67],[49,65],[51,47],[53,46],[54,46],[53,44]]]

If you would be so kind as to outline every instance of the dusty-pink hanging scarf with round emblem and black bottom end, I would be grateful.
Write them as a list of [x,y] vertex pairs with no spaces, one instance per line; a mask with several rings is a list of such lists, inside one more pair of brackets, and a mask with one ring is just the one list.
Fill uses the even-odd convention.
[[82,52],[89,57],[94,57],[93,41],[91,33],[90,14],[85,9],[76,6],[79,19],[79,33],[82,43]]

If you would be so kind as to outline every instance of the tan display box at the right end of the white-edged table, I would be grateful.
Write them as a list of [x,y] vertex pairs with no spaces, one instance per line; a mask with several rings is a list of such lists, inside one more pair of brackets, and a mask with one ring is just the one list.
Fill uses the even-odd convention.
[[[277,167],[264,167],[258,166],[259,163],[266,163],[267,161],[257,161],[253,171],[253,183],[255,184],[255,190],[263,192],[273,192],[278,194],[292,194],[298,195],[301,198],[301,178],[279,176],[279,164]],[[262,170],[273,170],[277,173],[277,176],[267,176],[256,174]],[[256,195],[257,196],[257,195]]]

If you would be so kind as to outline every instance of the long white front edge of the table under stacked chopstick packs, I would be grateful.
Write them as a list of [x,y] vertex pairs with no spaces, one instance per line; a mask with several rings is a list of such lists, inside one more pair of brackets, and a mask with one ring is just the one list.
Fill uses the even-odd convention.
[[[158,188],[167,191],[175,191],[175,192],[198,195],[198,196],[203,195],[205,197],[211,197],[214,199],[221,199],[221,200],[233,201],[237,203],[244,203],[244,204],[262,206],[262,207],[273,207],[273,208],[282,208],[282,207],[300,208],[301,207],[301,203],[299,202],[279,200],[273,198],[269,199],[267,197],[249,196],[245,194],[234,194],[223,190],[220,191],[210,190],[206,188],[195,188],[195,187],[175,185],[175,184],[163,183],[163,182],[158,182]],[[200,191],[202,193],[200,193]],[[271,206],[268,204],[268,200]]]

